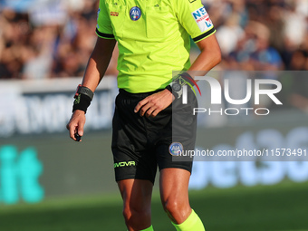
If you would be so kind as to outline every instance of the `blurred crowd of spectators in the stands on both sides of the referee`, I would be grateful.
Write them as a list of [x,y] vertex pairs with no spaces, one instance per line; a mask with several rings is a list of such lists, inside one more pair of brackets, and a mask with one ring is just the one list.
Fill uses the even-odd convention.
[[[202,2],[217,27],[219,69],[308,70],[307,0]],[[0,0],[0,79],[81,76],[98,7],[98,0]],[[117,74],[116,57],[106,74]]]

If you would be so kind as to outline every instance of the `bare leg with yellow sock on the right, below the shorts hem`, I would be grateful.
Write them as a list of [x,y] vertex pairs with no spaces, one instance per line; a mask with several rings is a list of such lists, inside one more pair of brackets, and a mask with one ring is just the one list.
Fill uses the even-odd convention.
[[205,231],[202,221],[189,205],[189,177],[188,170],[163,168],[159,178],[161,202],[178,231]]

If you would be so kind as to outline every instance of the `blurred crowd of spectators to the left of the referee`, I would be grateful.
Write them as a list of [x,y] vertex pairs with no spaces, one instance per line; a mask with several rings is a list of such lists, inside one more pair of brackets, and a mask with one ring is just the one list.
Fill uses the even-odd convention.
[[[0,2],[0,79],[82,76],[97,38],[99,1],[19,2]],[[116,56],[106,74],[117,74]]]

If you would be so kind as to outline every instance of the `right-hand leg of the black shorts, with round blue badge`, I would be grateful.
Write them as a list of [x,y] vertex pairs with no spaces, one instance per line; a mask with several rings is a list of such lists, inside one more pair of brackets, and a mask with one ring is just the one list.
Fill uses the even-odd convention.
[[192,96],[188,104],[174,101],[170,119],[160,131],[155,149],[159,170],[182,168],[191,172],[193,159],[188,153],[195,149],[197,132],[197,116],[192,115],[194,107],[197,107],[197,99]]

